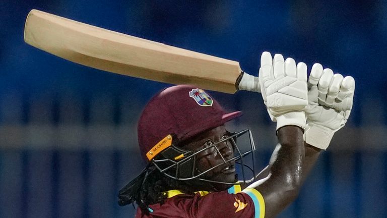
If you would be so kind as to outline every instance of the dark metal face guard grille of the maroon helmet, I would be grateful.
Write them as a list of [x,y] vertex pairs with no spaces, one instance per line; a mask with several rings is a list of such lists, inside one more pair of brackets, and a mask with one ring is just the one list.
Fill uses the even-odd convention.
[[[248,135],[248,140],[250,142],[250,146],[247,151],[242,151],[236,144],[236,139],[244,134]],[[225,158],[222,154],[222,152],[218,148],[218,144],[220,143],[227,143],[227,141],[232,145],[234,150],[234,156],[232,158]],[[206,169],[203,172],[199,172],[197,170],[197,155],[209,151],[216,152],[217,155],[220,155],[222,162],[219,163],[216,166],[213,166],[209,169]],[[254,140],[251,135],[251,131],[249,129],[242,130],[237,133],[232,133],[227,138],[224,138],[218,142],[215,142],[214,144],[205,147],[203,149],[200,149],[198,151],[188,151],[184,150],[180,147],[177,147],[175,145],[172,145],[168,147],[167,149],[163,150],[159,153],[155,158],[152,159],[152,164],[165,176],[170,177],[175,180],[180,181],[187,181],[187,180],[201,180],[206,182],[213,182],[213,183],[221,183],[221,184],[246,184],[254,181],[255,179],[255,166],[254,166],[254,160],[255,160],[255,145]],[[251,155],[251,167],[246,165],[246,163],[243,161],[243,158],[247,155]],[[242,180],[236,182],[236,183],[229,183],[229,182],[223,182],[223,181],[214,181],[209,179],[202,178],[205,174],[208,172],[214,170],[215,168],[218,168],[220,166],[226,166],[228,163],[232,162],[237,163],[240,165],[241,174],[242,174]],[[245,169],[246,168],[246,169]],[[247,179],[245,170],[248,170],[248,172],[251,174],[252,177]]]

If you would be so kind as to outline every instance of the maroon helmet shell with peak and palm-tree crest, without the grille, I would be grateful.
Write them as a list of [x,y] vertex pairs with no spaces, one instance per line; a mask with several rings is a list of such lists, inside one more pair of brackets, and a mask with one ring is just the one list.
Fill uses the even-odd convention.
[[[177,85],[156,94],[145,106],[138,123],[142,156],[168,135],[183,141],[221,126],[242,112],[227,113],[206,91],[191,85]],[[172,142],[173,143],[173,142]]]

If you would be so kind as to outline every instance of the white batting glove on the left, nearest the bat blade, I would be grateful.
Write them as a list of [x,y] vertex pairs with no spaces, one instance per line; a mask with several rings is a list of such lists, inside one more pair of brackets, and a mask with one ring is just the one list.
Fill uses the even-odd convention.
[[261,92],[272,121],[277,130],[283,126],[295,125],[305,129],[305,107],[308,105],[306,65],[280,54],[274,59],[269,52],[261,56],[259,73]]

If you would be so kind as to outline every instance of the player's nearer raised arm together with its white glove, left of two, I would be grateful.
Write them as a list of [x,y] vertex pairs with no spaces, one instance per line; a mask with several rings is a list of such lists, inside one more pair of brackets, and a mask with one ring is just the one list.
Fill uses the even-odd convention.
[[268,113],[277,122],[278,145],[271,157],[268,176],[245,192],[259,191],[265,201],[265,217],[273,217],[298,195],[305,157],[304,110],[308,104],[306,65],[269,52],[261,57],[261,91]]

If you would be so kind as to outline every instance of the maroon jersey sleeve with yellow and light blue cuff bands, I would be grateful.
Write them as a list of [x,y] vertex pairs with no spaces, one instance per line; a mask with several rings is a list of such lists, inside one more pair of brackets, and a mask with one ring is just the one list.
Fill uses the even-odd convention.
[[237,188],[234,186],[228,191],[205,196],[196,195],[186,207],[188,217],[263,218],[265,203],[261,193],[255,189],[240,192],[240,187],[239,190]]

